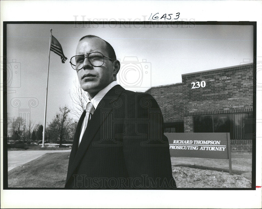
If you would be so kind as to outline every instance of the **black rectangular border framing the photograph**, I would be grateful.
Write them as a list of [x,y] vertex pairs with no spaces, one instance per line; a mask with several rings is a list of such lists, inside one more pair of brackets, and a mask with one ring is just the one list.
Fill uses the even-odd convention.
[[[252,25],[253,26],[253,135],[252,135],[252,186],[251,188],[177,188],[176,190],[255,190],[256,189],[256,21],[4,21],[3,69],[7,69],[8,24],[133,24],[133,25]],[[4,190],[65,190],[64,188],[8,188],[7,157],[7,71],[3,70],[3,189]]]

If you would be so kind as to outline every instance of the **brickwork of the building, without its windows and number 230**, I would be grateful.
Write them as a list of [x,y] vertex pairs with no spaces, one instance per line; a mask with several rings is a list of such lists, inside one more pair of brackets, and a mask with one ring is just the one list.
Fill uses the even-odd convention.
[[[201,81],[206,83],[204,88],[192,89],[192,82]],[[146,92],[159,103],[164,122],[183,121],[184,132],[190,133],[195,115],[253,111],[253,64],[184,74],[182,83],[152,87]],[[252,143],[238,143],[231,149],[249,152]]]

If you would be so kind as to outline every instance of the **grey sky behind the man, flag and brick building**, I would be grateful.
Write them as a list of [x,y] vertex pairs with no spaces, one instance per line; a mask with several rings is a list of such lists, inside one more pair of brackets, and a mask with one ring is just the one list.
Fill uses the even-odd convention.
[[43,124],[51,28],[68,59],[62,64],[57,54],[50,53],[47,122],[59,106],[73,107],[69,91],[74,90],[73,82],[78,78],[69,61],[79,39],[88,34],[113,46],[122,64],[118,83],[132,91],[179,83],[182,74],[253,59],[253,26],[8,24],[7,106],[11,118],[30,109],[31,120]]

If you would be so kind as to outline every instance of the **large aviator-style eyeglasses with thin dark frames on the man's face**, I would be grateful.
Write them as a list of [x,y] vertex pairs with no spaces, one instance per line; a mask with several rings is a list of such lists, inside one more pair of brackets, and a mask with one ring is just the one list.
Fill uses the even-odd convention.
[[70,64],[74,70],[80,70],[83,68],[83,63],[85,58],[88,59],[89,63],[94,66],[94,67],[100,67],[104,64],[105,58],[110,59],[113,61],[113,59],[106,57],[100,52],[91,52],[91,53],[86,53],[86,54],[80,54],[80,55],[75,55],[70,59]]

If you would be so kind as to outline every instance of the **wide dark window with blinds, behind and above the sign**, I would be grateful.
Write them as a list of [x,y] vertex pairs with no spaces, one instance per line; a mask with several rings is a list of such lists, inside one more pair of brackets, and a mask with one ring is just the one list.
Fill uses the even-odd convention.
[[252,124],[245,120],[252,118],[252,112],[193,116],[194,133],[230,133],[230,139],[248,139]]

